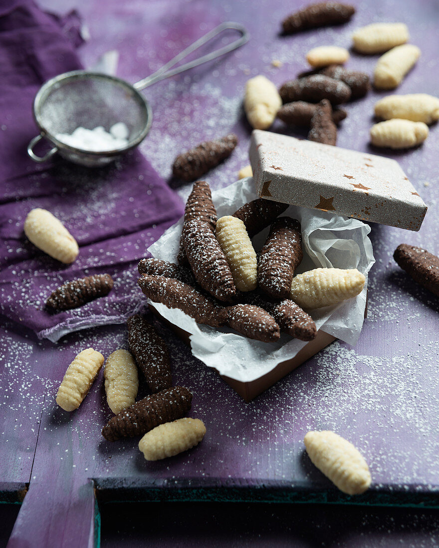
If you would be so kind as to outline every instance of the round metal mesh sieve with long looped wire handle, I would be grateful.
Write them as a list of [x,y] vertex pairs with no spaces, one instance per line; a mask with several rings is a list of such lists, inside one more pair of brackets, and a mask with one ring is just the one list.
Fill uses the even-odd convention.
[[[201,45],[229,29],[239,31],[241,37],[222,48],[170,70]],[[222,23],[190,44],[159,70],[135,84],[114,76],[85,70],[55,76],[43,84],[33,101],[33,116],[41,133],[30,141],[27,153],[39,163],[46,162],[56,153],[70,162],[89,167],[98,167],[112,162],[121,154],[137,146],[147,136],[151,127],[153,114],[148,101],[139,93],[141,89],[231,52],[245,44],[248,39],[249,34],[239,23]],[[108,129],[117,122],[126,124],[128,144],[115,150],[88,151],[67,145],[56,137],[59,133],[71,134],[77,127],[93,129],[102,125]],[[43,138],[47,139],[53,147],[44,156],[37,156],[33,147]]]

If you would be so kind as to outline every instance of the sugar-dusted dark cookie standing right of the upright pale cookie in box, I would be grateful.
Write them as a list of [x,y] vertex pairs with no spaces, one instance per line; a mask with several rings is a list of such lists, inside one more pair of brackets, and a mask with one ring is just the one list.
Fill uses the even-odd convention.
[[291,290],[294,271],[302,259],[300,222],[289,217],[276,219],[259,256],[259,287],[275,299],[286,298]]

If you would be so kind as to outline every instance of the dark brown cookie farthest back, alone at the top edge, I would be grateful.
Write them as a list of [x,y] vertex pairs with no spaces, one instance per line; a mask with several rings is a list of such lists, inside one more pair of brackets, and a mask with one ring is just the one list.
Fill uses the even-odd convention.
[[354,13],[355,8],[352,5],[318,2],[289,15],[282,21],[282,28],[285,34],[291,34],[307,28],[340,25],[349,21]]

